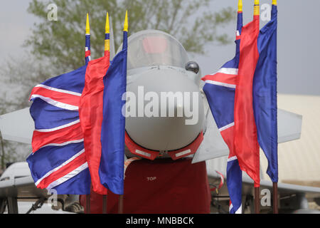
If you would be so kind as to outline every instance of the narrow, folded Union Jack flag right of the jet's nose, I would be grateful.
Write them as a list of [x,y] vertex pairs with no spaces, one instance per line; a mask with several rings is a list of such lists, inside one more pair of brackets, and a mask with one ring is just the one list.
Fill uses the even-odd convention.
[[242,171],[234,147],[235,87],[240,61],[241,30],[242,11],[239,11],[235,58],[225,63],[217,73],[202,78],[206,83],[203,86],[203,91],[206,93],[211,113],[223,140],[230,150],[227,165],[227,185],[230,195],[229,212],[231,214],[242,212]]

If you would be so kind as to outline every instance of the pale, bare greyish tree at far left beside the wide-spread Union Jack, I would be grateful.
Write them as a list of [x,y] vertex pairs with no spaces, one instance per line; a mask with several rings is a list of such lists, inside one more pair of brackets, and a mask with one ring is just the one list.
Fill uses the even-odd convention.
[[[5,85],[0,90],[0,115],[28,107],[33,86],[54,76],[45,63],[27,56],[8,58],[0,68],[0,85]],[[7,162],[26,160],[30,152],[31,145],[3,140],[0,133],[0,170],[4,170]]]

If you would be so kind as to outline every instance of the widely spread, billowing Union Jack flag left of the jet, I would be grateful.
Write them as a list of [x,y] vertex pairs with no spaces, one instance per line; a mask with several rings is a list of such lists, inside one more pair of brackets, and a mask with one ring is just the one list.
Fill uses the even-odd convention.
[[36,186],[58,194],[90,194],[79,104],[87,66],[35,86],[29,100],[35,123],[27,162]]

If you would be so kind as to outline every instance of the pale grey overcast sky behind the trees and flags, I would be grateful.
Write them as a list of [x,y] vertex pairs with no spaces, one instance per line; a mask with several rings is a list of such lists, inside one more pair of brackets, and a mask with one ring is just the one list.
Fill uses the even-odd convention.
[[[23,41],[31,35],[37,18],[26,9],[31,0],[2,1],[0,8],[0,61],[8,56],[21,56]],[[271,0],[260,0],[260,4]],[[244,24],[252,19],[253,0],[244,1]],[[226,6],[237,9],[238,0],[215,0],[211,6],[218,11]],[[279,93],[320,95],[320,1],[278,0],[278,91]],[[263,24],[263,23],[262,23]],[[235,36],[235,23],[220,28]],[[193,56],[203,75],[214,73],[235,55],[235,45],[207,46],[206,56]]]

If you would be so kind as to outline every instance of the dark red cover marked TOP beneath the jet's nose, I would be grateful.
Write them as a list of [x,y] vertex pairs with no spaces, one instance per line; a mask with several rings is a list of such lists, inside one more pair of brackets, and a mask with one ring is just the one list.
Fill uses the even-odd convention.
[[[108,191],[107,212],[117,214],[118,195]],[[86,197],[80,203],[86,205]],[[90,195],[90,213],[102,213],[102,195]],[[210,189],[206,162],[191,159],[137,160],[124,179],[125,214],[208,214]]]

